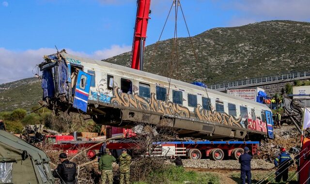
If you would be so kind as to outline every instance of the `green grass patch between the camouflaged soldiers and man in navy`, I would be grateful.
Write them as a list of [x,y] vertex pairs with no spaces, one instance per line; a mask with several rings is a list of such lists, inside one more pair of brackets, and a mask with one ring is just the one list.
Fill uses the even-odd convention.
[[152,171],[147,181],[134,184],[219,184],[220,177],[215,173],[186,171],[182,167],[168,166],[161,170]]

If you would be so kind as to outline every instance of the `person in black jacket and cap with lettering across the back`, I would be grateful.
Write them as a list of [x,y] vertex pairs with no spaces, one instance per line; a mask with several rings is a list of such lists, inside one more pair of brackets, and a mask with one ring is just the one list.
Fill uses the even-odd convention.
[[61,184],[76,184],[77,165],[67,159],[66,153],[60,153],[59,160],[62,163],[53,171],[53,176],[60,178]]

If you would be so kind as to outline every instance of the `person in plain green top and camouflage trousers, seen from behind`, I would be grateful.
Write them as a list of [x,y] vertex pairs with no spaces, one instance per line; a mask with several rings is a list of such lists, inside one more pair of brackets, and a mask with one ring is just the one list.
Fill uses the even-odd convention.
[[105,153],[100,157],[99,160],[99,171],[101,172],[101,183],[106,184],[108,179],[108,184],[113,183],[113,171],[112,171],[112,162],[115,162],[116,159],[109,152],[109,148],[105,149]]

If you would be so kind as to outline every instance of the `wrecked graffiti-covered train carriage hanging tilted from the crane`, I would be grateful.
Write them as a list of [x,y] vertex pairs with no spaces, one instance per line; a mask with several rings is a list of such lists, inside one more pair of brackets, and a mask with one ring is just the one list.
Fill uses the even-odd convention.
[[44,59],[42,104],[50,109],[86,113],[96,123],[119,127],[164,123],[180,129],[180,137],[274,137],[272,112],[263,104],[65,50]]

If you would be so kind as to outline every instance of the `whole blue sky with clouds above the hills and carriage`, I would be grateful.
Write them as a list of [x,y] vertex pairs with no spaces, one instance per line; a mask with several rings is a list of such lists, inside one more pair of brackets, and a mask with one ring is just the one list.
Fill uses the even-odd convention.
[[[65,48],[97,60],[131,50],[137,0],[0,0],[0,84],[37,73]],[[310,22],[310,0],[180,0],[191,36],[267,20]],[[163,29],[172,0],[151,0],[146,45]],[[173,8],[174,10],[174,8]],[[188,36],[178,13],[178,37]],[[174,35],[174,12],[160,40]]]

